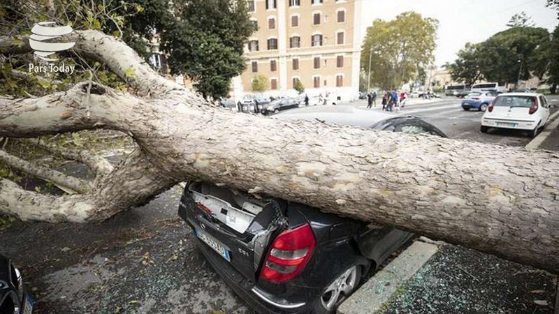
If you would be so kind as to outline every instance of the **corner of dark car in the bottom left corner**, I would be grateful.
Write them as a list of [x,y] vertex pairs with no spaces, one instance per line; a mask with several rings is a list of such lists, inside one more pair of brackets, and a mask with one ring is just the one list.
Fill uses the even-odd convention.
[[34,302],[23,288],[20,271],[8,257],[0,255],[0,313],[31,314]]

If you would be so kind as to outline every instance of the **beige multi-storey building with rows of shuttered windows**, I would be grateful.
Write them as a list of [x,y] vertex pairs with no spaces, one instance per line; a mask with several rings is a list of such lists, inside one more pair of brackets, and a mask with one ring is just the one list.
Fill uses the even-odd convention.
[[296,80],[310,96],[357,97],[361,57],[360,0],[249,0],[255,31],[245,47],[247,69],[234,80],[235,98],[263,75],[271,96],[293,93]]

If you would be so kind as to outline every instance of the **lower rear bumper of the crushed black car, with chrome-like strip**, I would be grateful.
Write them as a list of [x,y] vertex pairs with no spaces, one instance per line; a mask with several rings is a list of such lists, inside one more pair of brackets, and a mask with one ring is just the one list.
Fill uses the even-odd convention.
[[307,304],[293,304],[283,299],[277,299],[260,290],[254,283],[238,273],[230,264],[222,262],[223,258],[211,248],[196,239],[198,248],[208,260],[208,263],[225,281],[225,283],[238,294],[238,296],[259,314],[295,314],[310,313]]

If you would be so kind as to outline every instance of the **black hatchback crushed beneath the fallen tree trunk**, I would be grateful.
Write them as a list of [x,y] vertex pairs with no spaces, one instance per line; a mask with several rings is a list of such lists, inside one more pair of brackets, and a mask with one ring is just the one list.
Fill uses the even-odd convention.
[[[446,136],[418,118],[375,113],[317,106],[274,117]],[[184,189],[178,214],[215,271],[254,311],[266,314],[335,313],[369,269],[377,269],[413,237],[298,202],[200,181]]]

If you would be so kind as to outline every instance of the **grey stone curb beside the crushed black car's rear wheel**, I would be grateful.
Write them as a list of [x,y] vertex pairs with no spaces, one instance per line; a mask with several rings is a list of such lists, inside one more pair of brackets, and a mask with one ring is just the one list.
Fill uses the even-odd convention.
[[351,294],[351,297],[337,308],[337,313],[363,314],[379,311],[382,306],[389,304],[393,294],[405,285],[408,279],[412,278],[437,251],[439,247],[435,244],[415,241],[375,276],[363,283],[354,294]]

